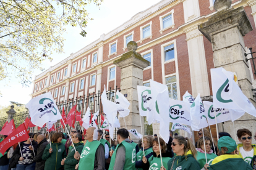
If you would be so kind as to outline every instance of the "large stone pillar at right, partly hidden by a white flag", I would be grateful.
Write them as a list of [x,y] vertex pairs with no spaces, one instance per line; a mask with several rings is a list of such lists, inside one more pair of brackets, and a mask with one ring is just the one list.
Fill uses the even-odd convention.
[[[233,9],[232,0],[216,0],[214,8],[215,15],[209,18],[208,22],[198,25],[203,35],[211,42],[213,49],[213,61],[215,68],[223,67],[225,70],[237,74],[238,85],[244,95],[255,106],[252,97],[252,79],[249,65],[245,62],[245,34],[252,31],[252,25],[247,17],[244,7]],[[233,139],[233,123],[227,121],[223,124],[224,131],[231,134]],[[237,129],[247,128],[254,134],[256,130],[256,118],[245,113],[244,116],[235,121],[235,132]],[[239,142],[237,140],[237,142]],[[254,140],[253,140],[254,142]]]

